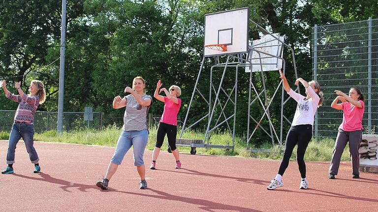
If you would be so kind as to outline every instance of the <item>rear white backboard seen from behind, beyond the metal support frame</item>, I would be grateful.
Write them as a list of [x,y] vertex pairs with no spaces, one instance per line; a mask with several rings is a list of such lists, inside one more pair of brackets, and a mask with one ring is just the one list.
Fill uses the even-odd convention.
[[[280,33],[274,33],[273,35],[280,38],[280,40],[284,42],[284,36],[280,36]],[[246,72],[251,72],[251,70],[252,72],[259,72],[261,71],[261,65],[263,71],[277,71],[282,68],[281,59],[265,54],[269,53],[275,56],[283,57],[283,44],[272,35],[266,34],[261,39],[254,40],[251,46],[252,50],[249,59],[251,59],[252,68],[247,66]],[[259,54],[253,50],[258,50],[263,53]]]

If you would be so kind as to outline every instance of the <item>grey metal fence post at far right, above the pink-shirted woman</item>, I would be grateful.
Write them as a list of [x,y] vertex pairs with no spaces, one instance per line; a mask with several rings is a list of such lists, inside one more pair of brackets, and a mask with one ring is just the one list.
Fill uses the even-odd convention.
[[368,41],[368,129],[372,133],[372,17],[369,17],[369,41]]

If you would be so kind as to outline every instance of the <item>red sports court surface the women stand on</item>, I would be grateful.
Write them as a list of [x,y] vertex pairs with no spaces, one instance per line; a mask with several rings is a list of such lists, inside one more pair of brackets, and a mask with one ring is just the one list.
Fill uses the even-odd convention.
[[[329,162],[307,162],[309,189],[299,189],[296,162],[290,162],[284,186],[267,190],[280,161],[182,154],[174,169],[171,154],[161,152],[157,170],[148,169],[149,188],[140,190],[132,151],[109,183],[95,186],[105,175],[114,147],[35,142],[41,173],[32,173],[23,141],[16,150],[15,173],[0,175],[1,212],[377,212],[378,175],[351,178],[350,162],[342,163],[329,180]],[[4,161],[7,141],[0,141]]]

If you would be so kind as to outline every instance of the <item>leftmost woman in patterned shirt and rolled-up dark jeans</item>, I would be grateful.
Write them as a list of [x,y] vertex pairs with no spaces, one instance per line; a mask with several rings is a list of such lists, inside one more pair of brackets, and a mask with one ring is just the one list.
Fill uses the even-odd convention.
[[8,166],[1,172],[1,174],[14,173],[13,163],[15,159],[16,145],[22,137],[25,142],[26,150],[29,154],[29,159],[34,163],[34,173],[40,173],[38,154],[34,149],[34,114],[40,104],[45,102],[46,92],[44,85],[39,80],[32,80],[30,83],[30,95],[26,95],[21,89],[21,82],[14,85],[17,88],[19,95],[14,95],[6,89],[5,80],[2,81],[2,88],[8,99],[20,103],[17,107],[14,116],[14,123],[12,131],[9,135],[8,151],[6,153],[6,163]]

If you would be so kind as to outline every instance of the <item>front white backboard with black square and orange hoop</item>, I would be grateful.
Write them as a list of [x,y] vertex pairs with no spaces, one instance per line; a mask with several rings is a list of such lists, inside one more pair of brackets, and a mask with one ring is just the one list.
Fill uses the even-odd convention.
[[217,56],[248,52],[249,8],[240,8],[205,15],[204,46],[224,44],[227,51],[204,47],[203,55]]

